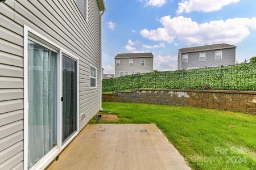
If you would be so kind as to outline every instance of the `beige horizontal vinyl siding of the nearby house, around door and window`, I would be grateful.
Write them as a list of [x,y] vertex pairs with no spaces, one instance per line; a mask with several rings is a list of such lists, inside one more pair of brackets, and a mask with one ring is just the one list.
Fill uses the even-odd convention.
[[[23,169],[23,25],[79,57],[79,130],[100,110],[101,16],[88,2],[88,22],[75,1],[0,3],[0,169]],[[89,89],[89,64],[97,89]],[[85,113],[85,118],[81,118]]]

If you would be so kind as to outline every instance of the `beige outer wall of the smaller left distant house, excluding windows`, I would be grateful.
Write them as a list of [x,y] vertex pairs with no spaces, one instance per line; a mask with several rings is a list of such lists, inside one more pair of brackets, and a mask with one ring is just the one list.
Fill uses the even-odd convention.
[[[150,58],[116,58],[120,60],[120,66],[115,65],[115,77],[119,77],[120,72],[128,71],[129,75],[135,72],[153,72],[153,57]],[[133,59],[133,66],[129,66],[129,59]],[[140,65],[140,59],[144,59],[144,66]]]

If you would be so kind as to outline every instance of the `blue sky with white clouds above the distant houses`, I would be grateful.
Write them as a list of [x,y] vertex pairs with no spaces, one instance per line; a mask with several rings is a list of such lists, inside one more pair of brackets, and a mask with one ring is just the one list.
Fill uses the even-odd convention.
[[256,1],[105,0],[104,73],[118,53],[152,52],[154,69],[176,70],[179,48],[226,42],[237,60],[256,56]]

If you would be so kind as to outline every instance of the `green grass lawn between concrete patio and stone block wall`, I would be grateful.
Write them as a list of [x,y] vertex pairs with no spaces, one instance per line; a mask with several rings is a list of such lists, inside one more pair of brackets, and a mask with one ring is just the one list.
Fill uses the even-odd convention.
[[[256,117],[214,109],[103,103],[118,121],[90,124],[154,123],[193,169],[256,169]],[[232,125],[230,128],[229,126]]]

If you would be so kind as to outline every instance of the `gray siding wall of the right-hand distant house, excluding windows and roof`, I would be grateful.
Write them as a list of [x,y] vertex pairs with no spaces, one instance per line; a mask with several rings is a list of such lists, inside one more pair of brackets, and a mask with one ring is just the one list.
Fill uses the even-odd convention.
[[[222,59],[216,59],[216,51],[222,51]],[[200,53],[205,52],[205,61],[200,61]],[[182,56],[188,54],[188,62],[182,62]],[[178,70],[187,70],[189,67],[217,67],[236,64],[236,48],[208,50],[203,52],[179,53]]]

